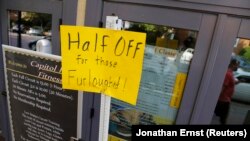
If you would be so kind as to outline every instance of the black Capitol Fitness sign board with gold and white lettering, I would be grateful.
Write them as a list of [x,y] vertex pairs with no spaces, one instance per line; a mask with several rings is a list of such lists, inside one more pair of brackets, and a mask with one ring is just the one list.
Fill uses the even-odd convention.
[[80,137],[81,97],[62,89],[60,57],[6,45],[3,54],[13,140]]

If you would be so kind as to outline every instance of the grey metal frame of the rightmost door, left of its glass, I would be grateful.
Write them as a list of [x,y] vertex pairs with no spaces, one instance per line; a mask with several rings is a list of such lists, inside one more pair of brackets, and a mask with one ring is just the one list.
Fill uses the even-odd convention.
[[236,38],[250,39],[250,18],[220,14],[190,124],[210,124]]

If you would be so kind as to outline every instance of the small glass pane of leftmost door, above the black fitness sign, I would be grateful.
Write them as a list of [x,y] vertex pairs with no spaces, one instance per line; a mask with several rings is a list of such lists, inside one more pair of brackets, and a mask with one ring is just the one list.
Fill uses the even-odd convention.
[[8,11],[9,15],[9,45],[36,50],[40,39],[51,41],[51,14]]

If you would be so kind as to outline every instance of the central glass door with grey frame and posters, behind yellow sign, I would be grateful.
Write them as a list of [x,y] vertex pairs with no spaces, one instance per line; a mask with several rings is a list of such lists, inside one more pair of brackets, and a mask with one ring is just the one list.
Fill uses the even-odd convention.
[[188,124],[216,16],[105,2],[104,23],[110,15],[147,33],[147,45],[137,104],[111,99],[108,140],[131,140],[132,125]]

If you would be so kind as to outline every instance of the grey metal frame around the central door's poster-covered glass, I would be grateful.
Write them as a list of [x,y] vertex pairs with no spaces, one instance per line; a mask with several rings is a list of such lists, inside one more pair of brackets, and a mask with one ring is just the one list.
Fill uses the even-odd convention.
[[[101,7],[103,10],[93,12],[92,9],[95,8],[91,6],[94,5],[96,7]],[[90,7],[92,9],[90,9]],[[86,25],[88,26],[102,26],[102,23],[105,21],[105,16],[115,14],[123,20],[167,25],[198,31],[194,58],[190,66],[182,103],[176,119],[176,124],[189,124],[203,77],[203,72],[205,71],[205,64],[207,56],[209,55],[217,16],[215,14],[192,12],[164,6],[138,5],[126,2],[122,3],[100,0],[87,2],[86,12]],[[91,13],[92,15],[88,13]],[[99,110],[100,96],[95,96],[95,107]],[[97,113],[98,112],[99,111],[97,111]],[[99,120],[99,117],[96,117],[93,121],[96,127],[92,128],[92,132],[94,133],[98,133]]]

